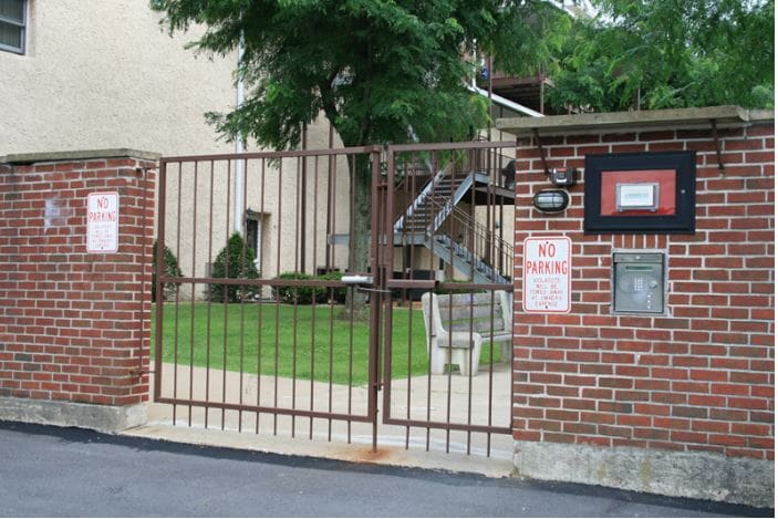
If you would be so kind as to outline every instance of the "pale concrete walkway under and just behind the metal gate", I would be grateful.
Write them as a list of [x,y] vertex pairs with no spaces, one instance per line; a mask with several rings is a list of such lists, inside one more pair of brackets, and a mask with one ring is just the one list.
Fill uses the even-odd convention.
[[[175,384],[174,384],[175,383]],[[450,384],[450,385],[449,385]],[[210,402],[276,405],[284,408],[332,411],[366,416],[367,388],[330,385],[321,382],[222,372],[173,364],[163,366],[163,395],[205,399],[206,386]],[[175,387],[175,393],[174,393]],[[481,367],[474,377],[458,374],[433,375],[397,380],[392,383],[392,416],[437,422],[469,423],[508,427],[510,424],[510,372],[505,364],[496,364],[492,373]],[[293,392],[292,392],[293,388]],[[491,393],[489,393],[491,392]],[[292,394],[294,398],[292,399]],[[450,405],[447,395],[450,394]],[[311,398],[313,395],[313,398]],[[470,395],[468,402],[468,395]],[[489,398],[491,395],[491,398]],[[487,405],[491,402],[491,405]],[[409,413],[408,413],[409,403]],[[197,445],[234,447],[276,454],[293,454],[321,458],[371,461],[383,465],[435,468],[453,471],[479,473],[491,477],[504,477],[514,471],[514,440],[510,435],[483,433],[469,435],[470,451],[467,454],[468,435],[464,432],[446,433],[440,429],[411,427],[406,449],[406,427],[381,424],[382,402],[378,402],[378,449],[372,450],[372,424],[297,417],[292,437],[292,419],[270,414],[236,411],[208,411],[201,407],[176,406],[152,403],[148,406],[148,425],[127,432],[128,435],[146,438],[169,439]],[[191,424],[191,426],[189,426]],[[349,443],[349,439],[351,443]],[[487,457],[487,442],[489,456]],[[448,447],[448,453],[446,448]]]

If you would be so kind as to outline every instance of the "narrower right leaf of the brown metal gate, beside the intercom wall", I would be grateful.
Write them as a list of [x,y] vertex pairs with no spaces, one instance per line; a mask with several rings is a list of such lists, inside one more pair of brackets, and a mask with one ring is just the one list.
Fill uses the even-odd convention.
[[[387,152],[380,222],[386,238],[376,252],[384,289],[383,423],[403,426],[406,446],[415,429],[429,449],[437,430],[449,451],[459,433],[470,454],[474,434],[481,434],[488,456],[491,435],[511,433],[514,247],[506,224],[514,218],[514,152],[515,143],[486,142]],[[393,320],[419,304],[422,341],[413,331],[394,336]],[[419,351],[421,373],[412,370]],[[407,365],[404,376],[397,364]]]

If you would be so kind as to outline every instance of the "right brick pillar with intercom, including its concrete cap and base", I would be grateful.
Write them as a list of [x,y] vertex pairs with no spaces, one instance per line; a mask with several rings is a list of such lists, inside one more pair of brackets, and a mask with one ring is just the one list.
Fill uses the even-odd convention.
[[[518,470],[772,507],[774,113],[708,107],[550,116],[539,132],[544,160],[533,124],[516,123]],[[694,233],[583,231],[587,156],[667,150],[696,154]],[[533,195],[551,187],[546,164],[582,174],[562,212],[532,207]],[[522,305],[523,241],[549,236],[572,242],[568,313]],[[666,258],[663,313],[614,311],[613,253],[635,251]]]

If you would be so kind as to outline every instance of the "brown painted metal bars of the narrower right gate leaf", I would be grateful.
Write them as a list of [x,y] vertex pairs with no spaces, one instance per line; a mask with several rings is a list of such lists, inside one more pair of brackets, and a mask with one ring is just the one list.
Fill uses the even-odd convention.
[[[409,200],[413,200],[416,195],[421,193],[421,189],[423,186],[416,186],[415,185],[415,179],[416,175],[413,175],[411,179],[408,180],[407,177],[403,178],[401,181],[397,180],[397,172],[402,167],[403,170],[407,172],[408,170],[408,165],[407,164],[402,164],[402,158],[400,157],[401,154],[411,154],[411,164],[416,164],[419,162],[419,157],[422,155],[425,155],[428,157],[428,163],[431,165],[431,179],[432,179],[432,187],[431,187],[431,199],[433,200],[433,204],[431,206],[434,206],[435,204],[435,193],[436,189],[438,188],[437,183],[437,175],[436,173],[438,169],[443,168],[449,168],[448,175],[444,175],[439,181],[448,181],[448,185],[445,186],[445,190],[447,191],[447,197],[450,200],[454,191],[455,191],[455,185],[453,181],[447,180],[446,177],[453,178],[457,173],[461,174],[467,174],[467,170],[461,169],[457,167],[453,163],[446,164],[446,153],[457,153],[457,152],[464,152],[466,156],[468,157],[468,165],[464,167],[469,167],[470,170],[476,170],[477,168],[480,168],[479,165],[483,165],[484,168],[489,173],[489,183],[486,188],[486,194],[487,194],[487,209],[486,209],[486,229],[487,231],[483,236],[484,240],[484,253],[486,256],[487,260],[492,260],[492,263],[495,264],[495,270],[498,269],[497,267],[497,261],[500,262],[500,266],[502,264],[502,258],[499,252],[499,243],[501,241],[496,240],[496,237],[498,236],[497,229],[496,229],[496,224],[497,224],[497,218],[496,218],[496,211],[498,210],[499,207],[497,205],[497,196],[496,196],[496,188],[497,186],[501,186],[499,184],[501,181],[501,176],[499,174],[499,162],[498,162],[498,154],[500,148],[512,148],[515,146],[515,143],[512,142],[506,142],[506,143],[488,143],[488,142],[478,142],[478,143],[444,143],[444,144],[426,144],[426,145],[403,145],[403,146],[391,146],[388,148],[388,156],[387,156],[387,184],[390,186],[395,186],[397,185],[396,189],[396,195],[402,196],[406,204],[409,203]],[[394,208],[395,203],[394,203],[394,196],[395,196],[395,190],[390,189],[387,193],[387,208]],[[475,189],[471,190],[470,194],[470,204],[473,206],[473,210],[475,210]],[[427,239],[431,242],[434,242],[435,237],[438,235],[448,235],[455,236],[456,229],[454,226],[454,219],[448,218],[447,224],[444,222],[444,226],[440,227],[439,230],[434,230],[434,227],[432,227],[432,221],[434,218],[434,212],[433,208],[429,209],[426,218],[427,218],[427,227],[428,229],[432,230]],[[407,215],[405,212],[405,209],[400,209],[397,210],[387,210],[385,212],[385,219],[384,219],[384,230],[386,231],[386,239],[383,241],[386,243],[386,248],[391,249],[393,247],[393,243],[395,242],[394,238],[394,220],[401,216],[401,215]],[[504,211],[500,209],[500,220],[504,217]],[[406,218],[407,221],[407,218]],[[406,230],[407,226],[403,226],[402,230],[402,243],[408,243],[412,242],[409,240],[413,239],[413,237],[409,237],[408,233],[409,231]],[[471,226],[467,229],[467,232],[471,235],[470,242],[475,243],[475,227]],[[413,248],[412,248],[413,250]],[[474,252],[475,253],[475,252]],[[491,292],[491,304],[490,304],[490,310],[491,310],[491,322],[489,326],[489,335],[494,336],[495,334],[495,322],[494,322],[494,314],[495,314],[495,304],[496,304],[496,291],[498,290],[511,290],[512,291],[512,286],[506,286],[504,283],[498,283],[498,282],[490,282],[490,283],[483,283],[483,282],[475,282],[475,263],[471,264],[470,267],[470,273],[469,273],[469,280],[465,282],[438,282],[435,280],[418,280],[414,279],[414,266],[415,262],[413,261],[413,256],[411,256],[411,259],[405,257],[405,255],[402,256],[402,267],[401,267],[401,276],[402,279],[394,279],[392,277],[392,272],[394,271],[393,269],[393,258],[391,256],[391,250],[387,251],[387,253],[384,256],[386,259],[386,272],[387,277],[383,279],[382,283],[377,284],[375,287],[376,290],[386,290],[386,289],[402,289],[403,292],[405,290],[409,289],[423,289],[423,290],[429,290],[433,292],[446,294],[446,293],[453,293],[454,290],[456,291],[473,291],[473,292],[480,292],[480,291],[486,291],[486,292]],[[494,261],[497,260],[497,261]],[[437,258],[433,255],[429,253],[429,270],[431,271],[436,271],[436,261]],[[454,263],[454,251],[453,249],[449,252],[449,266]],[[447,269],[452,269],[453,267],[447,267]],[[505,272],[505,269],[499,269],[499,271]],[[409,272],[409,276],[406,276],[405,272]],[[512,272],[510,272],[512,274]],[[393,304],[387,302],[385,304],[385,333],[384,333],[384,394],[383,394],[383,423],[387,425],[401,425],[405,426],[405,445],[406,448],[409,445],[409,436],[411,436],[411,429],[412,428],[422,428],[426,432],[426,448],[431,448],[431,433],[433,429],[442,429],[446,434],[446,450],[448,451],[452,447],[450,444],[450,433],[455,430],[460,430],[460,432],[466,432],[467,433],[467,453],[469,454],[471,450],[471,435],[473,434],[485,434],[487,438],[487,455],[490,454],[490,439],[492,434],[511,434],[511,427],[510,424],[504,424],[504,425],[496,425],[492,422],[492,398],[494,398],[494,345],[489,347],[489,367],[488,367],[488,373],[483,373],[479,376],[488,376],[488,394],[487,395],[479,395],[479,401],[476,401],[476,395],[474,394],[474,374],[473,370],[470,371],[470,374],[468,376],[468,394],[467,398],[465,399],[465,414],[466,414],[466,419],[463,422],[457,422],[453,419],[454,416],[454,398],[453,398],[453,372],[452,370],[448,371],[448,374],[444,377],[436,376],[437,382],[435,384],[440,383],[440,378],[443,378],[444,386],[442,387],[445,391],[445,419],[436,419],[433,418],[432,415],[432,391],[433,391],[433,374],[432,374],[432,366],[428,364],[427,367],[427,374],[426,374],[426,387],[424,388],[426,391],[426,419],[423,419],[421,417],[412,417],[411,413],[411,392],[413,390],[407,391],[406,397],[405,397],[405,407],[406,411],[404,413],[404,416],[393,416],[392,415],[392,403],[393,403],[393,393],[392,393],[392,363],[395,361],[392,355],[392,350],[393,350],[393,344],[392,344],[392,334],[391,334],[391,319],[394,313],[393,310]],[[449,320],[453,318],[450,314],[452,312],[452,307],[449,307]],[[412,315],[412,305],[408,304],[408,312],[409,315]],[[412,320],[409,319],[409,322]],[[469,330],[470,333],[474,332],[474,310],[473,307],[470,308],[469,312]],[[432,334],[432,330],[427,330],[428,334]],[[412,343],[412,333],[408,333],[408,357],[407,357],[407,376],[405,380],[406,387],[412,387],[412,376],[411,376],[411,356],[413,352],[413,347],[424,347],[424,345],[415,345]],[[431,336],[427,338],[428,340]],[[452,336],[449,334],[449,341],[452,340]],[[488,343],[488,341],[487,341]],[[449,347],[452,344],[449,343]],[[470,362],[477,363],[477,359],[473,359],[473,350],[470,350]],[[428,357],[429,360],[429,357]],[[457,375],[459,376],[459,375]],[[512,378],[512,373],[511,373],[511,378]],[[459,405],[459,402],[456,403],[456,405]],[[474,423],[473,421],[473,409],[475,406],[483,406],[486,405],[488,406],[488,418],[486,424],[479,424],[479,423]],[[510,402],[505,403],[506,406],[510,406]]]

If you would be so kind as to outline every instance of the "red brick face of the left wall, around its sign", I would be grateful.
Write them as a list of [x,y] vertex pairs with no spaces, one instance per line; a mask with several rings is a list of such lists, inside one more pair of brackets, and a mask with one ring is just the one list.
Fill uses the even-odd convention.
[[[0,396],[147,399],[156,164],[0,164]],[[117,191],[117,253],[86,252],[90,193]]]

